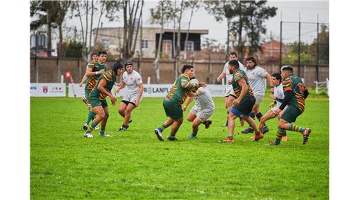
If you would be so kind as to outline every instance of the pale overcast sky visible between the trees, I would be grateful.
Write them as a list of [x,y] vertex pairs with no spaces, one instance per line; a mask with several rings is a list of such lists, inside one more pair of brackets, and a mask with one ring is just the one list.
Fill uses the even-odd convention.
[[[159,24],[151,24],[150,8],[155,8],[158,1],[145,1],[144,4],[144,26],[145,27],[160,27]],[[303,22],[317,22],[319,17],[320,23],[329,23],[329,1],[268,1],[268,6],[275,6],[278,8],[275,17],[270,18],[266,21],[265,26],[267,28],[266,35],[263,36],[266,41],[270,39],[272,33],[273,39],[280,39],[280,21],[295,21],[297,23],[283,23],[282,26],[282,39],[284,43],[290,43],[298,41],[298,21],[302,22],[301,26],[301,41],[305,43],[311,43],[316,38],[316,24],[307,24]],[[188,27],[189,13],[187,11],[184,14],[182,21],[182,27]],[[103,27],[118,27],[122,26],[122,21],[119,22],[108,22],[103,18]],[[68,27],[80,27],[79,19],[68,19],[65,23]],[[172,26],[168,26],[171,28]],[[208,37],[210,39],[216,39],[220,43],[226,43],[227,28],[226,19],[221,22],[215,21],[215,18],[209,15],[204,8],[200,8],[194,14],[191,29],[208,29]]]

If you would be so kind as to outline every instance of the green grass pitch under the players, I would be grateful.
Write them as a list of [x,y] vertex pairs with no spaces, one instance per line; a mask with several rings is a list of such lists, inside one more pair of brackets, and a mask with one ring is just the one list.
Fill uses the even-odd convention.
[[[31,98],[31,199],[329,199],[327,97],[309,97],[296,121],[313,130],[309,142],[288,132],[280,148],[264,145],[275,138],[276,119],[258,142],[235,134],[235,143],[218,143],[227,135],[226,111],[224,98],[214,100],[213,124],[201,126],[197,139],[187,139],[191,123],[184,121],[179,141],[160,142],[153,130],[166,120],[161,98],[144,98],[126,132],[117,131],[118,104],[110,106],[106,132],[114,137],[95,131],[93,139],[83,137],[81,99]],[[235,132],[244,129],[236,126]]]

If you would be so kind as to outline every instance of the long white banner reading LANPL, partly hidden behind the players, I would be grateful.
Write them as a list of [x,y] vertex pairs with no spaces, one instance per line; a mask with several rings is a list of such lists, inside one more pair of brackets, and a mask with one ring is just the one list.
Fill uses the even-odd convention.
[[[171,90],[172,84],[144,84],[143,97],[166,97],[166,94]],[[117,86],[113,86],[112,93],[115,94]],[[208,85],[209,92],[212,97],[224,97],[225,86],[221,85]],[[85,86],[80,87],[79,84],[72,84],[68,86],[68,97],[82,97],[85,92]],[[119,91],[115,97],[124,97],[126,95],[127,88]],[[76,96],[74,95],[76,94]]]

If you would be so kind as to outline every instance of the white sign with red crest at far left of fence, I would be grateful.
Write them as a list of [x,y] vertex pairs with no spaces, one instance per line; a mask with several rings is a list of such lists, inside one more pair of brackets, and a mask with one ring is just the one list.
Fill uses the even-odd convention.
[[66,97],[66,83],[30,83],[30,97]]

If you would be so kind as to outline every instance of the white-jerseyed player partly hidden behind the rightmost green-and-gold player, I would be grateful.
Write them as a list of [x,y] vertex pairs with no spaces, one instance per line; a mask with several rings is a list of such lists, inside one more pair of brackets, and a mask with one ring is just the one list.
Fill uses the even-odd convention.
[[[273,119],[277,117],[275,110],[280,108],[280,105],[282,105],[282,101],[284,99],[284,91],[282,86],[282,77],[280,76],[280,73],[274,73],[271,77],[273,88],[273,94],[271,94],[271,99],[275,99],[274,102],[269,104],[269,107],[271,107],[271,110],[268,110],[266,114],[260,119],[260,124],[258,126],[258,129],[260,131],[263,130],[264,122],[268,121],[269,119]],[[274,108],[273,108],[274,107]],[[288,106],[286,106],[281,112],[280,116],[282,116],[282,113],[285,109],[287,109]],[[284,134],[282,137],[282,141],[287,141],[287,134]]]

